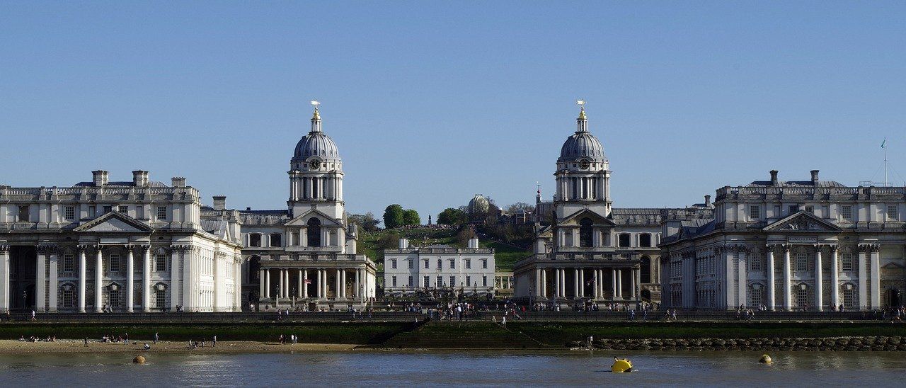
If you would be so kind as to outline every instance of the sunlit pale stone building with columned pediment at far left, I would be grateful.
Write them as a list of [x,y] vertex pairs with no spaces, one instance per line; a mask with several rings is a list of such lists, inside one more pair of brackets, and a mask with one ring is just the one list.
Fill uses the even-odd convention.
[[0,311],[234,311],[236,218],[203,215],[186,179],[0,186]]

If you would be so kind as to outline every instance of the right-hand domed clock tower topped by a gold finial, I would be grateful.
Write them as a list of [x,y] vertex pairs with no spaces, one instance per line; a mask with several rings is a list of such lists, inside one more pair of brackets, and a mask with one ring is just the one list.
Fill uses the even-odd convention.
[[588,131],[585,107],[576,119],[576,131],[564,141],[557,159],[556,203],[557,218],[564,218],[580,209],[592,209],[602,217],[611,214],[611,171],[604,147]]

